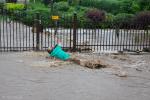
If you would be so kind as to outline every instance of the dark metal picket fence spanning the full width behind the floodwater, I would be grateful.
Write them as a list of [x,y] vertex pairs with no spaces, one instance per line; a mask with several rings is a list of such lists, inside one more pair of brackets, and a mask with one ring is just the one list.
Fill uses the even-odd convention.
[[96,22],[83,23],[75,14],[68,18],[61,16],[65,19],[63,21],[50,20],[48,26],[42,27],[39,13],[33,15],[31,25],[21,21],[24,15],[20,15],[19,19],[14,16],[0,11],[0,51],[46,50],[58,43],[63,49],[73,51],[136,51],[150,48],[149,27],[145,28],[141,23],[102,27]]

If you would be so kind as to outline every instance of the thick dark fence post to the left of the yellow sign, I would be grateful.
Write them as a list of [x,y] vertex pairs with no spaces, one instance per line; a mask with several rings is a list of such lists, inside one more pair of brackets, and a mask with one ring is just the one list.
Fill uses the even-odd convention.
[[36,13],[36,19],[35,19],[35,27],[36,27],[36,50],[40,50],[40,15],[39,13]]

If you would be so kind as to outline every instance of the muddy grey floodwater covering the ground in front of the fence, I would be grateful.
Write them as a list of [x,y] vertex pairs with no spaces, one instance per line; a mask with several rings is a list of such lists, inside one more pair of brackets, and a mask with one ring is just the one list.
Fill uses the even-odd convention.
[[[45,56],[0,54],[0,100],[149,100],[150,55],[102,55],[113,68],[32,66]],[[124,71],[127,77],[115,73]]]

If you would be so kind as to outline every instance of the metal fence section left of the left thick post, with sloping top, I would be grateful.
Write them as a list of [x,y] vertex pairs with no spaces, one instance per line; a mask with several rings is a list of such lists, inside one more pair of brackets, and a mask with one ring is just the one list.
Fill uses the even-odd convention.
[[35,48],[35,34],[31,27],[12,19],[12,15],[1,10],[0,51],[22,51]]

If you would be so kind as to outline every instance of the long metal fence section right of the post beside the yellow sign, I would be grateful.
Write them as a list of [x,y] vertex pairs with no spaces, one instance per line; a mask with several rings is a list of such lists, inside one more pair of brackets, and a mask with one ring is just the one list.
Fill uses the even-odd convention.
[[150,29],[142,23],[101,28],[87,22],[77,29],[77,48],[99,51],[137,51],[150,48]]

